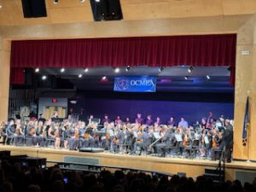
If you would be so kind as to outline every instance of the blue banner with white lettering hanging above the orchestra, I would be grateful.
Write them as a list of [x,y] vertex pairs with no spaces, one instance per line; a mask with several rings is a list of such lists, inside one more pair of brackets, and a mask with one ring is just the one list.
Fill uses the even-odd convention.
[[123,76],[114,78],[114,91],[121,92],[155,92],[154,76]]

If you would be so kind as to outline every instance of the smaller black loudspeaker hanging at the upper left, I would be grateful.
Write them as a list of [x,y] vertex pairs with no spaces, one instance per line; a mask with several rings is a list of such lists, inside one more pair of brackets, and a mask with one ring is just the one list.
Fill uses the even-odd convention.
[[45,0],[22,0],[21,2],[25,18],[47,16]]

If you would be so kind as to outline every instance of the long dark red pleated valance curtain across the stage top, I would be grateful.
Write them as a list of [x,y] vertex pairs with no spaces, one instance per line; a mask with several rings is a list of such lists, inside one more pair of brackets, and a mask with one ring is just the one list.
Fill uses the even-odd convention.
[[235,68],[235,61],[236,34],[26,40],[13,41],[11,49],[11,67]]

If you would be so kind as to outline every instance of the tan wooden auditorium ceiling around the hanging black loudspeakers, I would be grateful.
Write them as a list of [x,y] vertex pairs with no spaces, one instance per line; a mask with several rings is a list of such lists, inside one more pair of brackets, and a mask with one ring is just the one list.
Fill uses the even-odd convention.
[[[93,22],[90,0],[45,0],[47,17],[25,19],[21,0],[0,0],[0,26]],[[124,20],[252,15],[255,0],[120,0]]]

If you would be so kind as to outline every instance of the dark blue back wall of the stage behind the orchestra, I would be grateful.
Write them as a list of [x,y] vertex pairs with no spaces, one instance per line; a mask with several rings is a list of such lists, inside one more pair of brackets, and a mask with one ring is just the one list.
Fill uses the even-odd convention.
[[209,112],[212,112],[213,118],[216,119],[222,114],[226,118],[234,118],[234,103],[230,102],[173,102],[84,97],[70,108],[73,108],[74,112],[82,112],[80,119],[84,120],[90,114],[102,119],[105,113],[108,113],[110,119],[115,119],[117,115],[120,115],[123,120],[130,117],[132,122],[137,113],[142,113],[143,119],[146,118],[146,115],[151,114],[153,119],[159,116],[163,124],[173,116],[176,121],[184,117],[192,125],[196,120],[201,122],[201,118],[207,118]]

